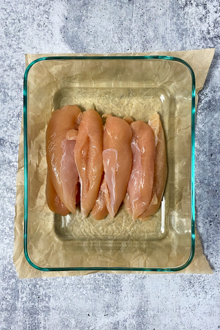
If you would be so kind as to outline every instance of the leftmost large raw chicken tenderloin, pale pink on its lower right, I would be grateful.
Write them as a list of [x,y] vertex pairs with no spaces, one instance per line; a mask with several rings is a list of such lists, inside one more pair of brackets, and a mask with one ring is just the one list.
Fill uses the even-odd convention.
[[67,131],[76,130],[80,114],[77,106],[66,106],[52,113],[46,131],[48,175],[62,203],[76,214],[78,171],[74,160],[75,140],[67,140]]

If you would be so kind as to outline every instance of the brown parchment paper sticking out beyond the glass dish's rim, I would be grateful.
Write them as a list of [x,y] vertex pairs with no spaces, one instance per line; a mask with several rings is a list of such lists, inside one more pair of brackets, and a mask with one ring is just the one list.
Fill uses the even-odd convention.
[[[164,55],[175,56],[185,60],[193,69],[196,77],[196,105],[198,101],[197,93],[202,89],[205,78],[208,73],[215,49],[198,49],[187,51],[170,51],[170,52],[146,52],[146,53],[112,53],[112,54],[25,54],[25,67],[37,58],[45,56],[147,56],[147,55]],[[175,274],[170,272],[134,272],[134,271],[60,271],[60,272],[43,272],[33,268],[24,256],[23,248],[23,230],[24,230],[24,152],[23,152],[23,119],[21,123],[21,134],[19,137],[18,151],[18,170],[16,179],[16,205],[15,205],[15,242],[13,260],[19,278],[39,278],[39,277],[65,277],[76,275],[87,275],[91,273],[113,273],[113,274]],[[191,264],[178,273],[191,274],[212,274],[212,270],[203,254],[202,245],[199,236],[195,235],[195,255]]]

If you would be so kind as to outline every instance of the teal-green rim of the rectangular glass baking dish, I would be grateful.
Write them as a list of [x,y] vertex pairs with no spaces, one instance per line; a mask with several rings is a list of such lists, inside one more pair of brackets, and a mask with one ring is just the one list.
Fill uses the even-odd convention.
[[[37,62],[48,60],[137,60],[137,59],[162,59],[168,61],[176,61],[184,64],[190,71],[192,77],[192,104],[191,104],[191,252],[189,259],[179,267],[173,268],[139,268],[139,267],[39,267],[35,265],[28,255],[27,250],[27,225],[28,225],[28,137],[27,137],[27,79],[30,68]],[[186,268],[192,261],[195,252],[195,182],[194,182],[194,165],[195,165],[195,74],[191,66],[178,57],[173,56],[48,56],[41,57],[31,62],[24,73],[24,255],[28,263],[37,270],[51,271],[151,271],[151,272],[178,272]]]

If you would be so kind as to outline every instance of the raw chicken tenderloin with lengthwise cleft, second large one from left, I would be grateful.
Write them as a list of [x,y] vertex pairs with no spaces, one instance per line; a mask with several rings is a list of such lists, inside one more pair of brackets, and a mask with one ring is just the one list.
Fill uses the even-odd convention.
[[74,149],[81,189],[81,214],[86,217],[93,208],[102,173],[103,124],[95,110],[83,113]]

